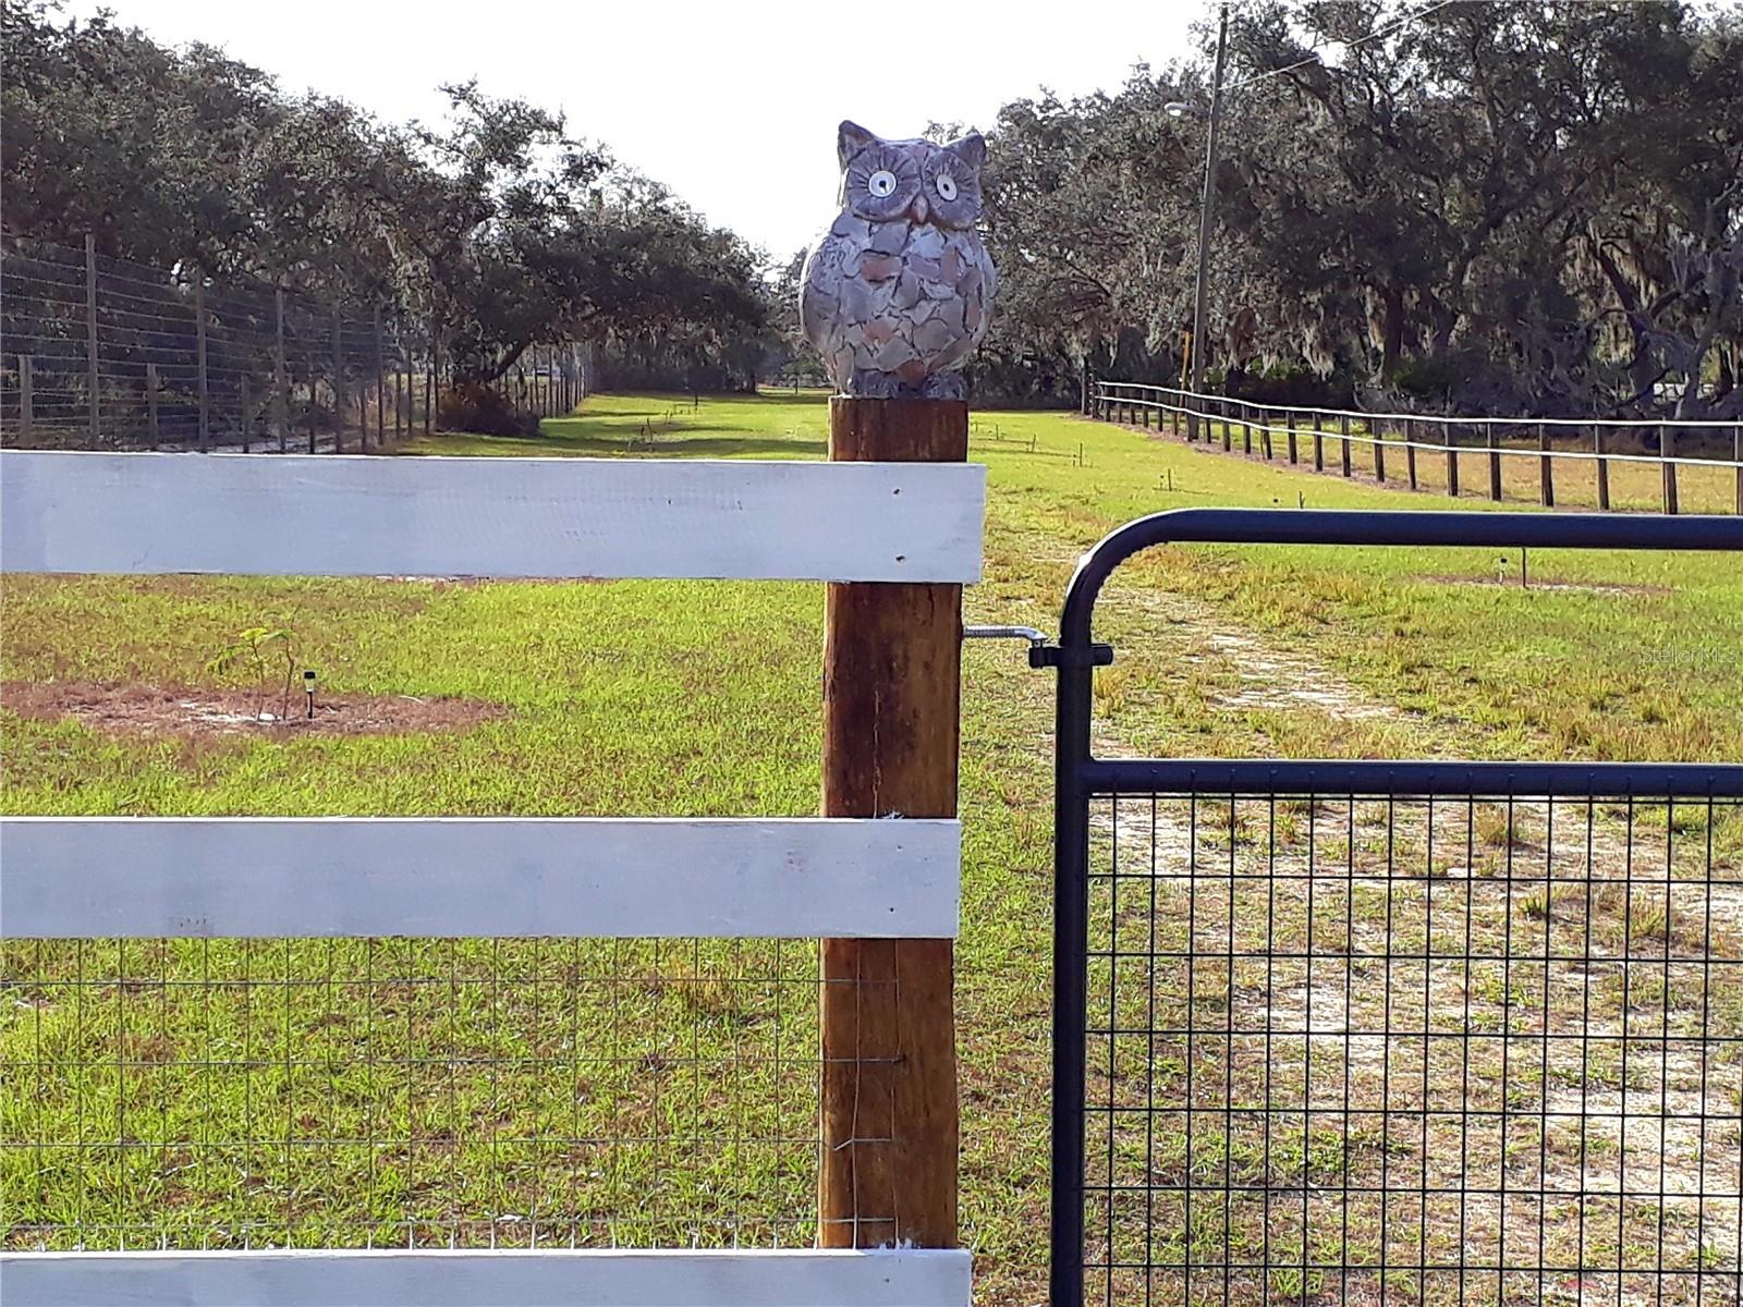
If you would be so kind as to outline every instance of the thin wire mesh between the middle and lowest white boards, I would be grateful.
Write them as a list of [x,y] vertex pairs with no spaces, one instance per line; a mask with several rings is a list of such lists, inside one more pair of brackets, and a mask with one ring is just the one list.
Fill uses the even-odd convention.
[[814,941],[0,950],[7,1248],[814,1243]]

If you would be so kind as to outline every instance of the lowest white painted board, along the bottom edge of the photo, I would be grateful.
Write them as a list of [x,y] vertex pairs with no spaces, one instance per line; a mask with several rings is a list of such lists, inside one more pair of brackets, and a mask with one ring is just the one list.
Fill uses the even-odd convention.
[[7,1307],[969,1307],[969,1253],[7,1253]]

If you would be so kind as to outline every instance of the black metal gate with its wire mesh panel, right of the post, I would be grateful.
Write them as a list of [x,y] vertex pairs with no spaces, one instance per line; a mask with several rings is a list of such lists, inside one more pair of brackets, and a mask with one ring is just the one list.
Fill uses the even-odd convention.
[[1743,523],[1192,509],[1084,558],[1034,655],[1053,1307],[1736,1304],[1743,765],[1096,758],[1096,596],[1185,542],[1743,551]]

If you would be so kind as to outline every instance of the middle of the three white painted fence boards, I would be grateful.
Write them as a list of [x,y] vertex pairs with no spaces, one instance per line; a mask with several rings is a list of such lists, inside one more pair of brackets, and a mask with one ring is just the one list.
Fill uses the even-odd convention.
[[933,819],[5,817],[3,938],[952,938]]

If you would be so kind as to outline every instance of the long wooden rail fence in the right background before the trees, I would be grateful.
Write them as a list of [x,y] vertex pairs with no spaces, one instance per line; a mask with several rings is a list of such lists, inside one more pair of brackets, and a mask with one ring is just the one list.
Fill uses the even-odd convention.
[[1743,514],[1743,422],[1360,413],[1136,382],[1096,382],[1089,416],[1166,427],[1220,443],[1225,453],[1239,444],[1265,462],[1497,504]]

